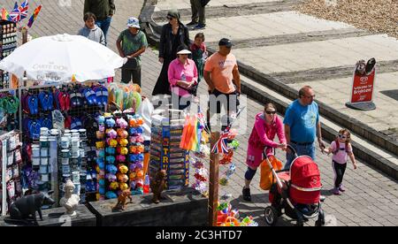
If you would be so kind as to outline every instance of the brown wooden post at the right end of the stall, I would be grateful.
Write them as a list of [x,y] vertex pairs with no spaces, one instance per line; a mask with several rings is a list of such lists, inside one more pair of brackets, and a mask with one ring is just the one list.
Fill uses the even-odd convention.
[[[219,132],[211,133],[210,149],[217,143]],[[219,172],[219,156],[218,154],[210,154],[210,179],[209,179],[209,225],[217,226],[217,209],[218,209],[218,172]]]

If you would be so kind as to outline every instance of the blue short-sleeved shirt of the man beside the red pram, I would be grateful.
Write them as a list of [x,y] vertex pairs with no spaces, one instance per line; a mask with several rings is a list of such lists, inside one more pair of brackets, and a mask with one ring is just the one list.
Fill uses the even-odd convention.
[[290,126],[290,141],[296,142],[315,141],[318,122],[318,103],[302,106],[298,100],[288,106],[283,120],[283,124]]

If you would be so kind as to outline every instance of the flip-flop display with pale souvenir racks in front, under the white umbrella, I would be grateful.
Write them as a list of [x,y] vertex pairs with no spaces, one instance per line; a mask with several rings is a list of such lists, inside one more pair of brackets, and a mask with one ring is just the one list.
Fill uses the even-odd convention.
[[91,188],[86,190],[87,172],[92,176],[96,168],[93,121],[105,111],[108,89],[86,84],[36,86],[24,88],[22,103],[27,188],[55,190],[54,198],[60,199],[63,184],[72,179],[76,194],[86,202],[86,193],[93,194]]

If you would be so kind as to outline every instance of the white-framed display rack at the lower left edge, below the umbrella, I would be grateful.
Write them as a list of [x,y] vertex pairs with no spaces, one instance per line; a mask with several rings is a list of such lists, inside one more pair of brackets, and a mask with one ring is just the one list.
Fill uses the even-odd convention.
[[23,195],[20,133],[11,131],[0,135],[0,213],[5,216],[11,202]]

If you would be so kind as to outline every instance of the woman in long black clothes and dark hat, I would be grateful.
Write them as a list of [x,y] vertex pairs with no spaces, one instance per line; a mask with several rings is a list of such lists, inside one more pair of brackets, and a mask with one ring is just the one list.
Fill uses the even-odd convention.
[[167,72],[172,60],[177,58],[177,48],[181,44],[189,47],[188,28],[180,22],[179,11],[172,10],[167,13],[168,24],[162,28],[159,43],[159,62],[163,64],[162,72],[157,78],[157,84],[152,95],[171,95]]

